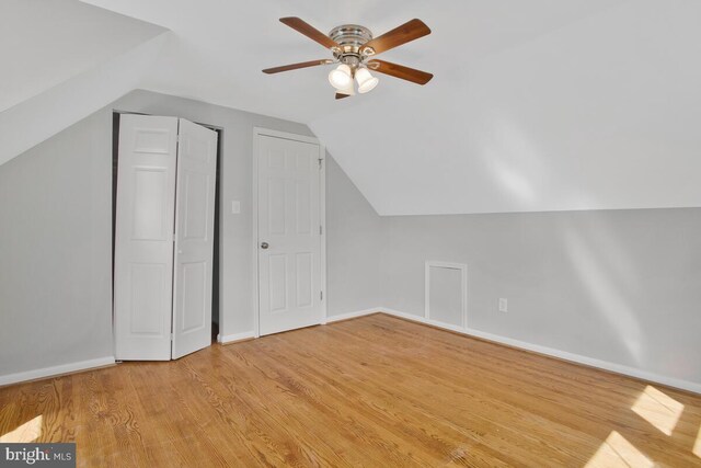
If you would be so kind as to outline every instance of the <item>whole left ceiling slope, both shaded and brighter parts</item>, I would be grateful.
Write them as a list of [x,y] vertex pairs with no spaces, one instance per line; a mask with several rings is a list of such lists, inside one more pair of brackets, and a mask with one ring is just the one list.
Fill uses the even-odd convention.
[[138,87],[165,33],[76,0],[0,1],[0,164]]

